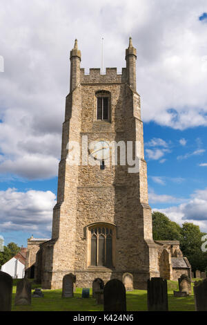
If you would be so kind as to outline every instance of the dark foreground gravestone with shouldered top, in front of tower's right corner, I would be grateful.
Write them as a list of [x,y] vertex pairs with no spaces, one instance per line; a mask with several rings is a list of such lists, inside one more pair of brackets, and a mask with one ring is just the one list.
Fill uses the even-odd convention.
[[148,310],[168,311],[167,280],[161,277],[148,279]]

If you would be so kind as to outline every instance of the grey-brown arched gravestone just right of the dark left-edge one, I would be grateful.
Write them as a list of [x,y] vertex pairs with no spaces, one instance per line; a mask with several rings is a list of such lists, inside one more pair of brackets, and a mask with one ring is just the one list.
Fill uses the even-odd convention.
[[30,305],[31,298],[31,284],[28,279],[22,279],[17,283],[17,291],[15,295],[15,305]]

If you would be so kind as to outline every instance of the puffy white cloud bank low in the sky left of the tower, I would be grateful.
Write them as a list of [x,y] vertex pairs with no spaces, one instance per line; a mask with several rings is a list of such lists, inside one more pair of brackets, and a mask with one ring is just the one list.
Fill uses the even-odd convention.
[[1,232],[26,231],[50,236],[56,196],[50,191],[0,191]]

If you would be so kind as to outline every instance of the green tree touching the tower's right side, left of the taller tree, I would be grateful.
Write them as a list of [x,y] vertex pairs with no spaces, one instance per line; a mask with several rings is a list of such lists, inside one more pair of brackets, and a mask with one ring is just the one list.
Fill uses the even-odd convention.
[[152,213],[152,236],[155,241],[180,241],[181,227],[166,214],[155,211]]

